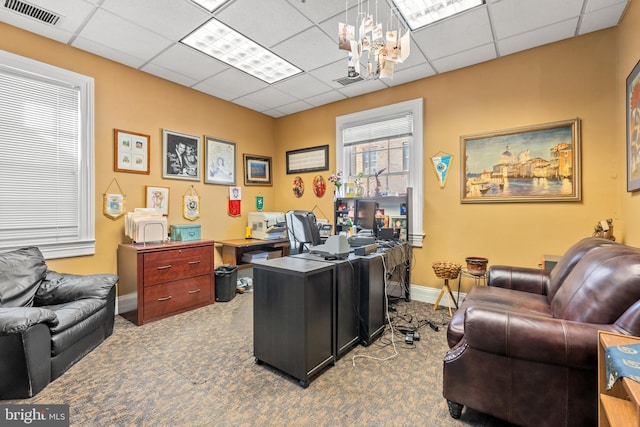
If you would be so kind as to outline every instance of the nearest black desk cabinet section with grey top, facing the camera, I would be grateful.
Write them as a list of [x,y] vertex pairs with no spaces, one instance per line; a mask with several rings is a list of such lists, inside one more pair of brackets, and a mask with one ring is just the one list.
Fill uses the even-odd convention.
[[335,363],[335,270],[286,257],[253,266],[253,355],[297,378],[302,387]]

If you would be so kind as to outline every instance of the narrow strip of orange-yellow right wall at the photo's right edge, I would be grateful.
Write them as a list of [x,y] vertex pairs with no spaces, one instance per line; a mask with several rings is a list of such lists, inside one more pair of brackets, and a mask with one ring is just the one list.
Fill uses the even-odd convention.
[[[636,2],[629,6],[624,20],[619,26],[619,59],[616,81],[617,110],[615,125],[618,129],[616,155],[620,158],[621,183],[617,192],[621,195],[621,212],[628,225],[625,229],[625,242],[632,246],[640,246],[640,227],[637,221],[640,216],[640,191],[626,192],[626,79],[638,60],[640,60],[640,5]],[[622,178],[624,177],[624,178]]]

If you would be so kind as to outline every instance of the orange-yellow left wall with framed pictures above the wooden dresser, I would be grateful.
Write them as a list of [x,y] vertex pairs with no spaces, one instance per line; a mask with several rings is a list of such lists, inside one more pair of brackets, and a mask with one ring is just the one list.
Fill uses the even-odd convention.
[[[274,187],[246,187],[242,216],[230,217],[228,186],[163,179],[161,155],[163,128],[235,142],[236,179],[242,185],[242,154],[273,154],[273,118],[2,23],[0,34],[0,49],[95,79],[96,254],[49,260],[50,268],[79,274],[117,272],[118,244],[129,242],[124,219],[112,221],[102,215],[102,197],[114,177],[129,210],[145,206],[145,186],[169,187],[169,224],[190,223],[182,217],[182,195],[193,184],[201,197],[201,218],[193,223],[201,224],[206,239],[243,236],[246,214],[255,210],[258,193],[265,197],[265,210],[275,209]],[[151,135],[150,175],[114,172],[114,129]]]

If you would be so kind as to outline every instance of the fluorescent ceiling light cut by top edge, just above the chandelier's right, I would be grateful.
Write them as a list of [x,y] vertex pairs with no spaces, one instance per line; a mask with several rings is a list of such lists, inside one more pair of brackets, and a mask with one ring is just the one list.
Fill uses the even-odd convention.
[[392,0],[411,30],[485,3],[484,0]]

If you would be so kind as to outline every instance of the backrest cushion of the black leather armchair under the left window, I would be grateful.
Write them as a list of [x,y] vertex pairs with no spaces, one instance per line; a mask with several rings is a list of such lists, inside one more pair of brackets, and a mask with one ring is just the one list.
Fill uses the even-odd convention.
[[0,254],[0,307],[30,307],[47,266],[36,247]]

